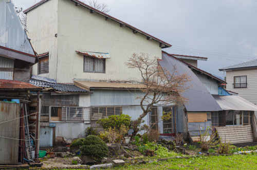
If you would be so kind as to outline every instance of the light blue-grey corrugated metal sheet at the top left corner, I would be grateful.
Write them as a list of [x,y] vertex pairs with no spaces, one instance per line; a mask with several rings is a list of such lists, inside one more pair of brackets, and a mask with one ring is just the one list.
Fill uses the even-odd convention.
[[0,0],[0,46],[34,55],[12,0]]

